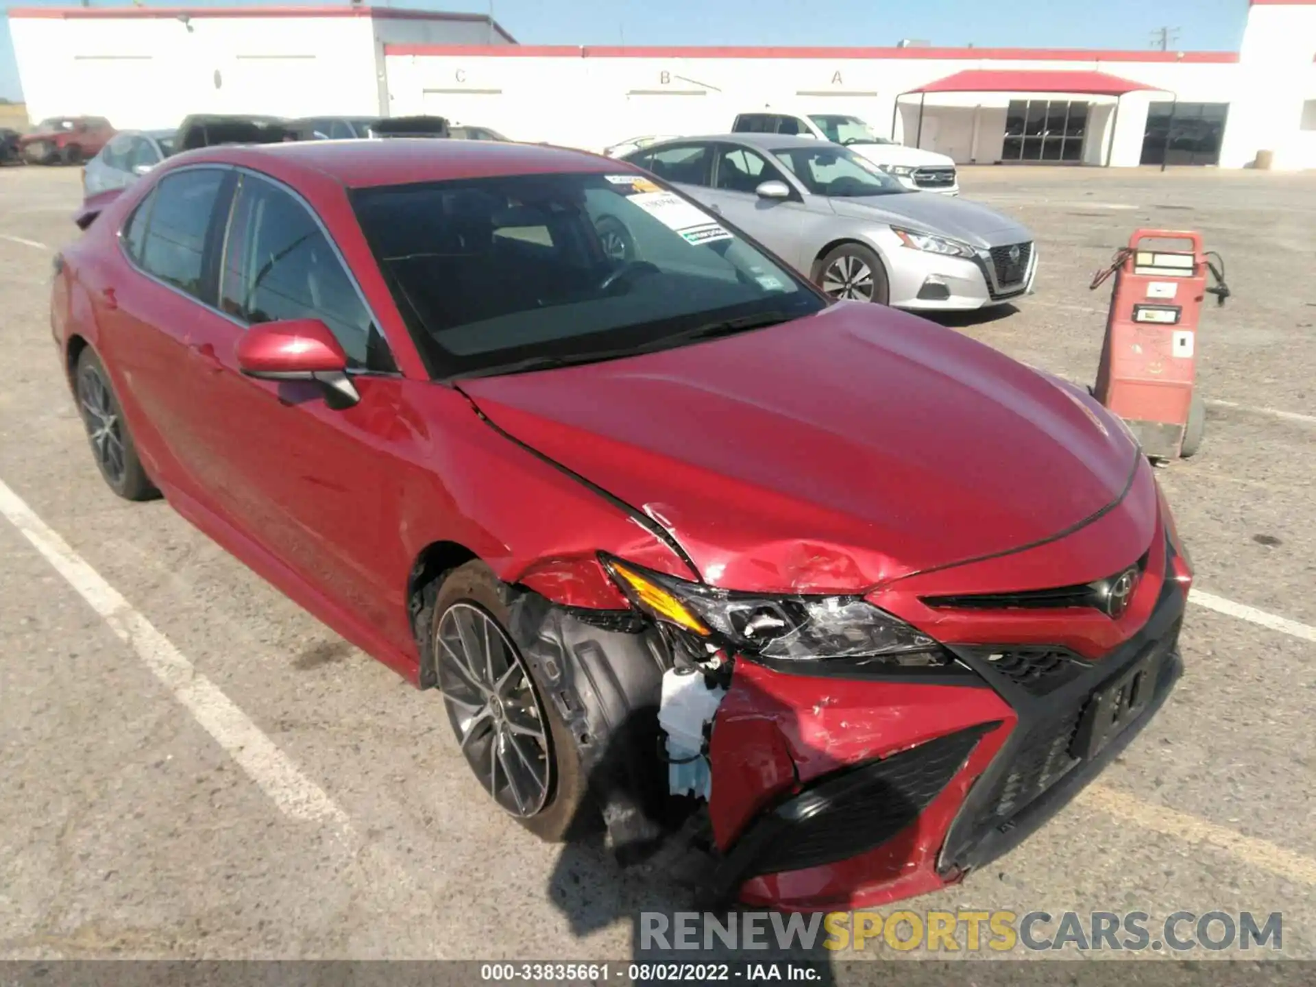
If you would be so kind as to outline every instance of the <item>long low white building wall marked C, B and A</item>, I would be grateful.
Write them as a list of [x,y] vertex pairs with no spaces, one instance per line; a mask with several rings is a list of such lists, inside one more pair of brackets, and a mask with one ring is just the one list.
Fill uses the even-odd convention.
[[[853,113],[879,133],[913,145],[919,97],[901,93],[966,68],[1104,71],[1150,87],[1175,87],[1180,99],[1203,103],[1227,101],[1237,70],[1223,61],[1179,63],[1159,53],[1150,53],[1148,61],[1134,54],[1115,63],[929,54],[936,49],[917,57],[697,58],[661,50],[632,55],[617,49],[391,46],[386,67],[397,113],[440,113],[494,126],[517,139],[590,149],[641,134],[721,133],[737,113],[765,107]],[[1009,99],[1011,93],[929,95],[921,146],[959,162],[996,161]],[[1145,93],[1123,99],[1115,164],[1138,163],[1150,99]]]

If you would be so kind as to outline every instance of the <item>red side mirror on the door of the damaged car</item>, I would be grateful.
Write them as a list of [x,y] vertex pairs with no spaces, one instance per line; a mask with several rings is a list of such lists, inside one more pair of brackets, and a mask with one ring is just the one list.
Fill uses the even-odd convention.
[[332,401],[361,400],[347,376],[347,354],[318,318],[259,322],[238,340],[238,370],[261,380],[316,380]]

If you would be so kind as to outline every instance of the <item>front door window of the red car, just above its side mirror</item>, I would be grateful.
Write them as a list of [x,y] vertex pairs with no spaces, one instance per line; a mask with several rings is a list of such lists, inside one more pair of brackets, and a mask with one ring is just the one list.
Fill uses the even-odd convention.
[[397,368],[357,283],[311,209],[254,175],[243,175],[238,187],[220,308],[249,324],[318,318],[342,345],[349,368]]

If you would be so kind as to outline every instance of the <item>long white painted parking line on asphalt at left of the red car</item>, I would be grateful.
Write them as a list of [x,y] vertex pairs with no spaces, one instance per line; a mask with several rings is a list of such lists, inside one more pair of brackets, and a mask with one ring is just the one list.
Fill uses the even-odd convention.
[[0,482],[0,513],[104,617],[114,636],[137,651],[155,678],[284,815],[297,820],[332,822],[342,836],[350,832],[346,813],[324,790],[301,774],[246,713],[199,672],[167,637],[133,609],[114,587],[68,547],[4,482]]

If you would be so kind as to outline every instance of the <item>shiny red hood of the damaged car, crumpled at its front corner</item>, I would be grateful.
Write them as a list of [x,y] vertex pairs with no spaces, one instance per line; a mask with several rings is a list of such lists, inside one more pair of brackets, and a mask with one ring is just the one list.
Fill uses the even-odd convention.
[[1017,550],[1119,500],[1138,461],[1086,395],[858,303],[462,390],[726,588],[855,592]]

